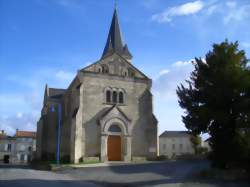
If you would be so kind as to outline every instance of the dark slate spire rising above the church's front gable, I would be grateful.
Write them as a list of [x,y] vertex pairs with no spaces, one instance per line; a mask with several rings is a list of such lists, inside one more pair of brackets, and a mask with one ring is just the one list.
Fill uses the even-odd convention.
[[127,44],[124,44],[122,40],[122,34],[121,34],[120,25],[119,25],[116,4],[115,4],[111,26],[109,29],[107,42],[106,42],[106,45],[102,54],[102,58],[109,54],[112,54],[113,52],[118,53],[119,55],[126,58],[127,60],[132,59],[132,55],[128,50]]

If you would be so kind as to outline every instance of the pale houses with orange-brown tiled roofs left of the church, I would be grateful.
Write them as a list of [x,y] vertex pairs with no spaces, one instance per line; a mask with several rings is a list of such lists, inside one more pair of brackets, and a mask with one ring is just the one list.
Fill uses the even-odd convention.
[[16,130],[14,136],[0,133],[0,162],[28,163],[36,151],[36,133]]

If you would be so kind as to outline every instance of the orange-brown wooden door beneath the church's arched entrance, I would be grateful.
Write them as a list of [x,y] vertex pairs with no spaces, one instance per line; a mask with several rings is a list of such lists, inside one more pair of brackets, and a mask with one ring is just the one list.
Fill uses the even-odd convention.
[[108,160],[120,161],[121,160],[121,137],[108,136]]

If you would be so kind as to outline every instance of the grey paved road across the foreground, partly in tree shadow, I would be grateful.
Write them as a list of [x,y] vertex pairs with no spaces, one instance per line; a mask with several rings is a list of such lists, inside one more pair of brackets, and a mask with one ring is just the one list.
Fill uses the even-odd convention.
[[139,165],[63,169],[0,168],[0,187],[247,187],[248,184],[199,180],[193,175],[207,161],[178,161]]

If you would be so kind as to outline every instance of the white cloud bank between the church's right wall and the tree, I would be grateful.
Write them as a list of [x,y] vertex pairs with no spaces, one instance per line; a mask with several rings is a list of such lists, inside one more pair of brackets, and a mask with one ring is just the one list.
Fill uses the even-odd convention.
[[185,83],[193,71],[192,60],[177,61],[168,69],[159,72],[153,80],[154,112],[159,119],[159,132],[164,130],[185,130],[181,115],[183,110],[178,104],[177,86]]

